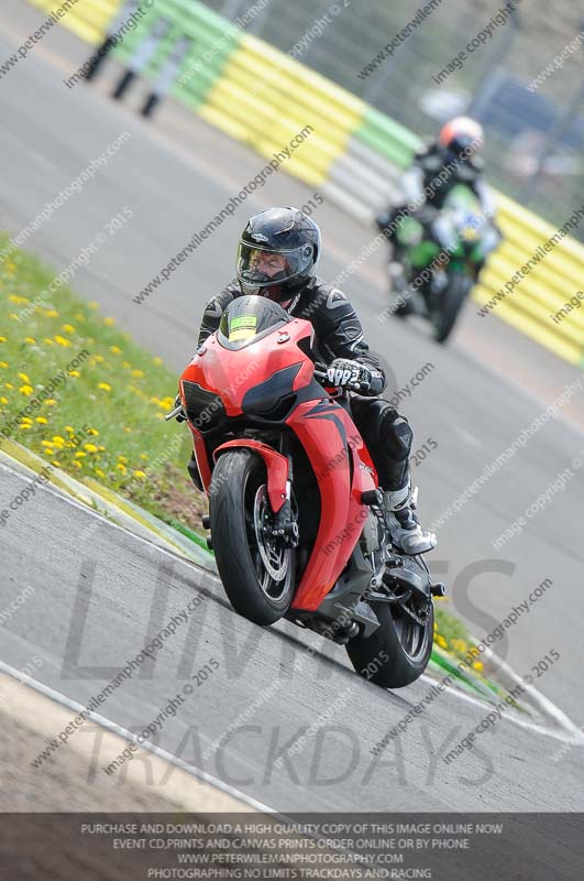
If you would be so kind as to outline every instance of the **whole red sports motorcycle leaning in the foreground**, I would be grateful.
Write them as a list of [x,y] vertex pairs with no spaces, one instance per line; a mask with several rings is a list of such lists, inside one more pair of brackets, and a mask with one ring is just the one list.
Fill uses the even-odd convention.
[[330,388],[312,342],[309,322],[238,297],[180,377],[207,541],[238,612],[315,630],[399,688],[428,664],[443,585],[392,546],[350,396]]

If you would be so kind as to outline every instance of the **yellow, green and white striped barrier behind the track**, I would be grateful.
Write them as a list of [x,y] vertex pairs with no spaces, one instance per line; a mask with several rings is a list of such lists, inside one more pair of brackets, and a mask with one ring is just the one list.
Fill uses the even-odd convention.
[[[30,0],[45,11],[63,6],[55,0]],[[119,0],[78,0],[62,23],[96,43],[118,14]],[[363,221],[371,221],[396,194],[399,172],[420,141],[411,131],[368,107],[360,98],[195,0],[155,0],[152,13],[115,47],[128,62],[137,43],[164,17],[172,30],[143,75],[154,79],[177,36],[194,45],[178,70],[172,94],[209,122],[268,159],[283,150],[306,126],[313,131],[285,168],[320,186]],[[483,306],[536,249],[557,232],[550,224],[497,194],[497,220],[505,241],[492,255],[474,292]],[[569,218],[566,217],[566,220]],[[584,222],[584,220],[583,220]],[[584,247],[565,237],[496,303],[493,315],[572,363],[584,366],[584,307],[554,323],[558,313],[584,290]],[[488,315],[484,320],[493,320]]]

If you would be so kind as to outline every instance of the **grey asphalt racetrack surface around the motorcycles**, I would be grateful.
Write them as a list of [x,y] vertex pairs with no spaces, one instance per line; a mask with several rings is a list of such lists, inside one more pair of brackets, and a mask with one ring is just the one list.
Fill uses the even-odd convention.
[[[42,18],[12,0],[2,20],[4,14],[1,57]],[[234,242],[246,217],[271,204],[302,205],[313,191],[283,173],[273,175],[147,303],[136,305],[137,292],[264,161],[172,105],[154,124],[142,122],[131,108],[107,97],[113,68],[99,89],[67,89],[63,78],[86,54],[81,43],[59,31],[0,80],[1,226],[20,230],[92,157],[121,132],[130,132],[108,167],[41,227],[29,247],[60,271],[112,215],[130,207],[132,220],[78,272],[74,286],[99,301],[178,372],[194,351],[203,303],[232,278]],[[315,216],[324,237],[320,274],[334,278],[374,233],[330,202]],[[381,251],[374,254],[343,287],[372,348],[392,365],[397,388],[425,363],[433,365],[401,405],[416,432],[415,449],[428,437],[438,443],[414,469],[423,520],[432,522],[580,371],[497,319],[480,319],[472,304],[448,348],[434,345],[423,327],[382,325],[383,257]],[[480,637],[544,578],[553,580],[498,650],[521,675],[550,650],[560,652],[560,661],[537,684],[579,726],[584,722],[582,471],[503,551],[494,551],[492,540],[584,449],[582,400],[582,393],[576,395],[561,418],[541,428],[445,523],[430,561],[449,583],[454,608]],[[173,426],[169,433],[179,429]],[[24,481],[4,468],[0,475],[0,507],[5,507]],[[214,657],[219,670],[166,721],[159,743],[263,804],[286,811],[583,809],[582,748],[565,749],[554,761],[559,740],[509,717],[478,738],[478,750],[445,765],[444,752],[487,713],[453,692],[441,695],[374,759],[371,749],[428,693],[427,679],[394,694],[355,681],[342,650],[287,624],[262,630],[247,623],[231,612],[220,586],[208,576],[51,489],[37,490],[14,513],[0,531],[0,548],[1,608],[25,585],[35,590],[4,624],[1,660],[20,668],[38,655],[43,665],[37,678],[81,703],[207,579],[210,596],[192,614],[188,632],[179,630],[154,668],[143,665],[140,677],[108,698],[101,713],[126,728],[141,728],[191,673]],[[502,559],[503,566],[493,562]],[[318,653],[307,657],[300,675],[294,674],[294,657],[306,656],[308,644],[318,645]],[[107,670],[97,672],[80,670],[104,665]],[[271,696],[254,711],[254,699],[274,682]],[[329,729],[309,738],[290,763],[275,768],[277,751],[348,688],[346,704]],[[209,749],[238,718],[251,727],[207,759],[197,757],[197,738],[185,740],[190,730],[201,749]]]

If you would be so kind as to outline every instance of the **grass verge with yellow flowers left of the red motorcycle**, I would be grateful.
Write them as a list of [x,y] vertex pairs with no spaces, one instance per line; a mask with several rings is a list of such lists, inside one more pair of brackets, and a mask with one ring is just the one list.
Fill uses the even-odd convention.
[[[0,250],[5,243],[1,237]],[[97,304],[63,287],[46,295],[53,278],[23,251],[0,263],[0,432],[158,516],[198,525],[205,504],[185,470],[189,433],[164,421],[177,376]],[[58,382],[46,399],[63,372],[65,384]],[[35,402],[27,416],[19,416]],[[19,424],[11,425],[15,417]]]

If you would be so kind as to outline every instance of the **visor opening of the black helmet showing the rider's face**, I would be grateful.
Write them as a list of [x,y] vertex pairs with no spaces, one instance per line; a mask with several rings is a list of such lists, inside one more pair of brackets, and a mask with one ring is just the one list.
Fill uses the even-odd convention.
[[253,287],[269,287],[290,281],[305,272],[311,263],[311,244],[302,244],[289,251],[277,251],[240,240],[238,279]]

